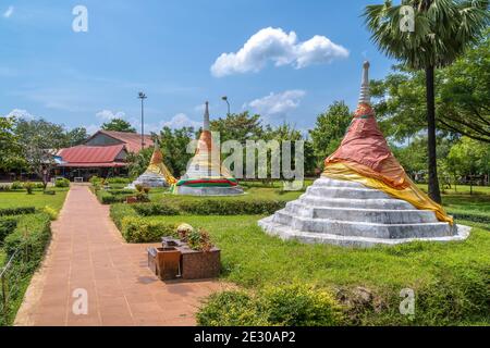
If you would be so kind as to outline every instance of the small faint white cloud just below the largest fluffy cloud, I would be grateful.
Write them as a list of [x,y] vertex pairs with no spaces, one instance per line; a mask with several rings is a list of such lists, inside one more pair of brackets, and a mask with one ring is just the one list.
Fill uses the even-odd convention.
[[286,90],[281,94],[271,92],[269,96],[245,103],[244,108],[252,108],[264,116],[286,114],[299,107],[305,95],[306,91],[301,89]]

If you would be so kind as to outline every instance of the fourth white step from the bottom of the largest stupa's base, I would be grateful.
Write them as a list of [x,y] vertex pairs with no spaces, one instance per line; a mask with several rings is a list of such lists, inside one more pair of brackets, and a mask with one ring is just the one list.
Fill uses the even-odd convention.
[[394,198],[356,199],[332,198],[311,195],[303,195],[297,200],[307,207],[333,207],[333,208],[366,208],[366,209],[397,209],[414,210],[415,207],[407,201]]

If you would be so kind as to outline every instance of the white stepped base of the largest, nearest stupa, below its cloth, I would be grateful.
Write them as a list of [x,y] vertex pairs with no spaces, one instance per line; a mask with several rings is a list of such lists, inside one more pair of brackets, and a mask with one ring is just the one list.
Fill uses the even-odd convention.
[[352,247],[414,240],[463,240],[469,227],[439,222],[434,212],[358,183],[321,177],[299,199],[259,221],[271,235]]

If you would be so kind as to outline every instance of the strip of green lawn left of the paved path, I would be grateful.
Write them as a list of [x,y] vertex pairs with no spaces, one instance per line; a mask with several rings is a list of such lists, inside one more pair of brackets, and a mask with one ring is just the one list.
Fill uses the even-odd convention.
[[34,195],[27,195],[25,190],[0,192],[0,209],[14,207],[35,207],[36,209],[46,206],[59,211],[63,207],[68,188],[53,188],[54,196],[45,195],[42,190],[35,189]]

